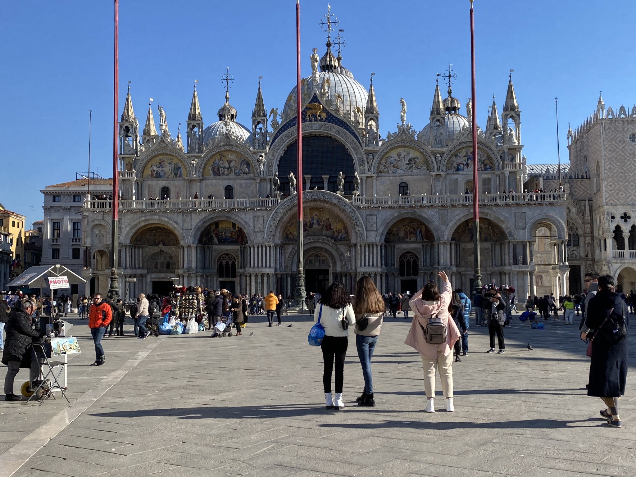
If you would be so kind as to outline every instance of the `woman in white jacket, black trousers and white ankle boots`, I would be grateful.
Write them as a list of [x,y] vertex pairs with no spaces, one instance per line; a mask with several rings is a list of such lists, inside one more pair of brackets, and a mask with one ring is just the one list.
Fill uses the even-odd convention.
[[[356,324],[356,315],[351,306],[349,292],[343,282],[333,282],[316,304],[314,322],[320,322],[324,328],[322,340],[322,360],[324,371],[322,373],[322,385],[324,386],[325,408],[344,409],[342,399],[342,384],[344,381],[345,356],[349,344],[349,326]],[[336,366],[335,395],[331,395],[331,372]]]

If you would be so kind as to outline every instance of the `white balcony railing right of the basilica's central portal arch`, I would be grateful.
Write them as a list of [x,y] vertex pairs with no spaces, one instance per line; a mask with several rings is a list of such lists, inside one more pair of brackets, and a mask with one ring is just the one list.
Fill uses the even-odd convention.
[[[393,195],[388,197],[353,197],[352,204],[359,207],[422,207],[426,205],[469,205],[473,194],[447,195]],[[537,192],[515,194],[480,194],[483,205],[560,204],[565,202],[564,192]]]

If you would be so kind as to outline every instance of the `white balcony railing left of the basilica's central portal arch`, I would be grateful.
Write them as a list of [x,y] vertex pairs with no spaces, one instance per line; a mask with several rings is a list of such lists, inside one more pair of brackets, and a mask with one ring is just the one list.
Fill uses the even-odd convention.
[[[140,199],[120,200],[120,211],[147,211],[152,209],[185,210],[226,210],[226,209],[271,209],[279,205],[278,198],[237,198],[237,199]],[[90,200],[84,202],[85,209],[111,209],[112,200]]]

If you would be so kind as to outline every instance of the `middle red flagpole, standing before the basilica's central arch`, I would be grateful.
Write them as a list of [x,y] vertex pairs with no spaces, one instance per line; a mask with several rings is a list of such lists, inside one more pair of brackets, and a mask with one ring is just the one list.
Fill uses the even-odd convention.
[[297,223],[297,255],[296,263],[296,289],[294,290],[294,298],[296,298],[296,306],[300,306],[301,310],[305,305],[305,258],[303,255],[303,116],[302,116],[302,96],[300,89],[300,1],[296,0],[296,192],[298,193],[298,223]]

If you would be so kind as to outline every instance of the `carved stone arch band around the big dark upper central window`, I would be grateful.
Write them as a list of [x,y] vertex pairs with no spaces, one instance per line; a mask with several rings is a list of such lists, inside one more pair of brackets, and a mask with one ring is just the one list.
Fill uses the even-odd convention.
[[[367,174],[364,149],[358,137],[354,137],[354,135],[345,128],[332,123],[308,122],[303,123],[302,127],[303,137],[308,135],[325,135],[341,142],[353,158],[356,172],[358,174]],[[270,146],[268,157],[266,158],[265,167],[268,176],[273,176],[273,173],[278,170],[280,157],[294,141],[296,141],[296,128],[290,128],[275,139]]]

